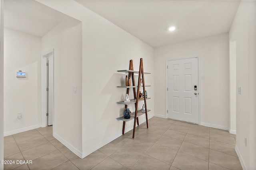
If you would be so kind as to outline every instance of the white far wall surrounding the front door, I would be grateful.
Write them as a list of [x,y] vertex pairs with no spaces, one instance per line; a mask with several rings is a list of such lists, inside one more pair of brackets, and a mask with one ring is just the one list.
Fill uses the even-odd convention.
[[228,33],[158,47],[154,51],[155,113],[166,115],[166,59],[201,56],[201,123],[229,126]]

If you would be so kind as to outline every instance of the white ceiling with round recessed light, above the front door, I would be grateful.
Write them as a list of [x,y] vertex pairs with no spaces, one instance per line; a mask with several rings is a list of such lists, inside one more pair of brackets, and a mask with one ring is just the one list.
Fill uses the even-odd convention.
[[[229,31],[238,0],[76,0],[152,47]],[[176,30],[168,31],[175,26]]]

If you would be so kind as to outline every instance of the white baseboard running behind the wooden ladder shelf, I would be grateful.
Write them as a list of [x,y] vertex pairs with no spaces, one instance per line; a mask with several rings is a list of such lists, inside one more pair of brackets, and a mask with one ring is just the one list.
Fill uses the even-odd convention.
[[[152,117],[154,117],[154,114],[148,113],[148,119],[150,119],[150,118],[152,118]],[[144,123],[144,122],[146,121],[146,116],[145,116],[145,115],[141,115],[141,116],[139,117],[139,120],[140,120],[140,121],[139,121],[140,124],[141,124],[141,123]],[[126,125],[127,125],[127,124],[128,124],[128,123],[126,123]],[[137,124],[136,124],[136,126],[137,126]],[[130,131],[130,130],[132,130],[132,129],[133,129],[133,124],[132,124],[131,126],[125,128],[125,133],[128,132],[128,131]],[[118,138],[118,137],[120,137],[120,136],[122,136],[122,129],[120,129],[120,133],[116,134],[114,137],[112,137],[112,138],[110,138],[110,139],[108,139],[108,140],[106,140],[106,141],[104,141],[104,142],[102,142],[102,143],[99,143],[98,145],[92,147],[90,150],[87,150],[85,153],[82,154],[82,158],[84,158],[84,157],[88,156],[89,154],[91,154],[92,152],[94,152],[94,151],[100,149],[100,148],[103,147],[104,145],[107,145],[107,144],[110,143],[111,141],[114,141],[116,138]],[[80,157],[80,156],[79,156],[79,157]],[[80,157],[80,158],[81,158],[81,157]]]

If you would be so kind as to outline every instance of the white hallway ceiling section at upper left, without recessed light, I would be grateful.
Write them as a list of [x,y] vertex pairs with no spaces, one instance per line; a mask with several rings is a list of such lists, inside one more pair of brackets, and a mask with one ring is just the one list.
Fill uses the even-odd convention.
[[4,0],[6,28],[42,37],[64,20],[77,21],[34,0]]

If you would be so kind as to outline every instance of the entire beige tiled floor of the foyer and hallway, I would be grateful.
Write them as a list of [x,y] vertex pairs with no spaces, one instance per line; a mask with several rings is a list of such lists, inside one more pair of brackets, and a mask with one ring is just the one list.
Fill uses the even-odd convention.
[[[236,136],[228,131],[152,117],[84,159],[52,137],[52,127],[4,137],[5,160],[32,160],[6,165],[15,170],[242,170]],[[121,129],[120,129],[121,130]]]

